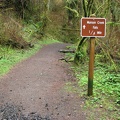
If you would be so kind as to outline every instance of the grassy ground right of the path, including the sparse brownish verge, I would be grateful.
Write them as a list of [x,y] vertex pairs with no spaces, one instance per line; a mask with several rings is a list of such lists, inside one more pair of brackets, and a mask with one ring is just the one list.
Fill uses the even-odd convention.
[[[66,54],[66,57],[73,56]],[[96,56],[93,96],[88,97],[88,64],[86,59],[79,66],[72,65],[77,80],[67,83],[66,90],[77,93],[84,99],[87,120],[120,120],[120,73],[115,71],[110,62],[100,62]]]

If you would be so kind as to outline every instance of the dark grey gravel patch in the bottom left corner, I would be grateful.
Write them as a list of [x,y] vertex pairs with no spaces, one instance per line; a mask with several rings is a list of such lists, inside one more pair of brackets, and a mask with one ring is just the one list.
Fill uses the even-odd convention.
[[0,107],[0,120],[51,120],[49,116],[41,117],[36,112],[25,116],[22,113],[22,109],[22,106],[7,103]]

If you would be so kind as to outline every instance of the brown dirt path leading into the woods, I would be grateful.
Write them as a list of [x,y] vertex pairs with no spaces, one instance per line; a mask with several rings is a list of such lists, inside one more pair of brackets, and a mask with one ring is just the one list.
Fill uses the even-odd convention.
[[1,78],[0,106],[19,105],[24,115],[37,112],[51,120],[85,120],[80,98],[64,89],[65,83],[72,80],[68,65],[59,60],[63,54],[58,50],[65,46],[44,46]]

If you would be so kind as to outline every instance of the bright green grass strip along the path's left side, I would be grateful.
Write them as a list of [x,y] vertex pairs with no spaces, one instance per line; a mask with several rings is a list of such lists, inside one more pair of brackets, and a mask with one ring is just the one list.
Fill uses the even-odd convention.
[[25,60],[35,54],[43,45],[58,42],[52,37],[43,38],[35,44],[34,48],[12,49],[11,47],[0,46],[0,76],[5,75],[18,62]]

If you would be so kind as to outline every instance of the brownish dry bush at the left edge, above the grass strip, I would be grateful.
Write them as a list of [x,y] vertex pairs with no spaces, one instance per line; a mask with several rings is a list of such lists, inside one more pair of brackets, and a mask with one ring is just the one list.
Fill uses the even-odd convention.
[[6,15],[0,16],[0,44],[13,48],[27,48],[27,43],[21,34],[22,25],[16,20]]

